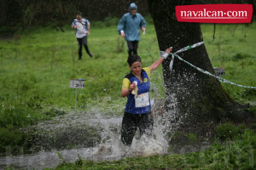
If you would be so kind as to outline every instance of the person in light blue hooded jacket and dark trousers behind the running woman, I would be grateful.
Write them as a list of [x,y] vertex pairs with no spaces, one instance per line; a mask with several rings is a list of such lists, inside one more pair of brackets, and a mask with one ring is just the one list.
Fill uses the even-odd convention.
[[128,46],[128,54],[137,54],[138,42],[140,38],[140,29],[143,33],[146,30],[146,21],[141,14],[137,13],[137,5],[131,3],[129,13],[119,20],[118,31],[121,37],[125,37]]

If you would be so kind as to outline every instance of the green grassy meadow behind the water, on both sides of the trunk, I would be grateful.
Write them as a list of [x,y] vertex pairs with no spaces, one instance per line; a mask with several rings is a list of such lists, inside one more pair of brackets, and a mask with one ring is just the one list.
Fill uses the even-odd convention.
[[[231,82],[256,86],[256,24],[202,25],[202,33],[212,65],[224,66]],[[70,26],[64,32],[49,27],[31,27],[14,37],[0,41],[0,151],[8,145],[26,144],[29,138],[20,132],[26,127],[53,116],[73,111],[74,89],[71,78],[84,78],[79,89],[79,111],[102,111],[122,114],[125,99],[119,97],[122,79],[129,72],[125,41],[119,38],[116,20],[92,22],[88,45],[93,58],[83,49],[78,60],[77,41]],[[245,36],[246,35],[246,36]],[[176,51],[177,49],[174,49]],[[159,58],[154,26],[148,22],[138,53],[143,65]],[[157,94],[164,97],[161,69],[152,75]],[[224,84],[230,96],[241,103],[255,104],[256,92]]]

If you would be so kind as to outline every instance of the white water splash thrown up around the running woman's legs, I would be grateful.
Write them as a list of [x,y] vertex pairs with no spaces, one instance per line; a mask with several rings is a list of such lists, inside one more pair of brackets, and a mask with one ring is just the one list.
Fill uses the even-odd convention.
[[[158,79],[155,82],[163,82],[159,79],[161,77],[159,74],[154,75],[154,77]],[[161,86],[163,86],[163,83],[161,83]],[[106,119],[98,114],[97,118],[100,120],[104,130],[102,131],[100,149],[96,151],[96,154],[104,155],[108,153],[108,158],[119,159],[122,157],[164,155],[168,153],[169,141],[181,122],[181,117],[177,115],[176,97],[175,94],[170,96],[172,103],[169,106],[171,106],[172,110],[163,113],[164,99],[162,99],[160,92],[163,87],[159,87],[159,84],[151,83],[151,88],[154,89],[154,99],[151,101],[151,104],[154,104],[152,108],[154,115],[152,135],[143,134],[140,138],[137,132],[131,147],[127,147],[120,141],[120,126],[118,131],[114,133]]]

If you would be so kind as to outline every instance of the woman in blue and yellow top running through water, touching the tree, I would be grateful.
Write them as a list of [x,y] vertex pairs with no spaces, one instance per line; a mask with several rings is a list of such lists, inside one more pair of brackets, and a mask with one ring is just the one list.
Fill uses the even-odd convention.
[[127,59],[131,73],[125,76],[121,90],[121,96],[127,97],[121,128],[123,144],[131,146],[137,128],[139,128],[141,136],[143,133],[150,133],[154,124],[149,96],[150,72],[156,70],[171,51],[172,48],[167,48],[166,53],[160,59],[144,68],[142,60],[137,54],[131,54]]

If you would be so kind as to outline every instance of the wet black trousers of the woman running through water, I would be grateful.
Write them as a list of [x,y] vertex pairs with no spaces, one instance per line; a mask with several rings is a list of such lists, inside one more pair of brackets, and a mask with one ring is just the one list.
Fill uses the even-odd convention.
[[153,128],[153,124],[154,121],[151,112],[145,114],[125,113],[121,129],[121,141],[123,144],[131,146],[137,128],[139,128],[140,136],[142,136],[143,133],[149,135]]

